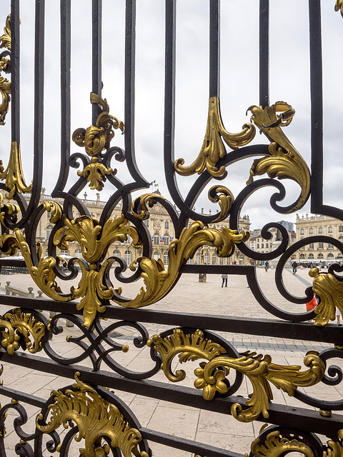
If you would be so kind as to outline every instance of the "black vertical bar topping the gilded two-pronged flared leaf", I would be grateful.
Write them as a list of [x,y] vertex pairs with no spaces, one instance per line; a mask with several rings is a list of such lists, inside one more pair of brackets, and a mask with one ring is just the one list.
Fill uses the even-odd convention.
[[220,88],[220,0],[209,1],[209,96],[219,97]]

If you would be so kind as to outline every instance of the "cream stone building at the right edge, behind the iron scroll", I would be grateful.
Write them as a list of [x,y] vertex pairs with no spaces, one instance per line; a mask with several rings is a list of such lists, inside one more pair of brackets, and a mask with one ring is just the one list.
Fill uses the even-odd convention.
[[[329,216],[299,216],[297,214],[297,241],[307,236],[324,235],[336,238],[343,243],[343,222]],[[319,263],[324,266],[332,262],[342,262],[343,255],[332,243],[309,243],[297,251],[300,263]]]

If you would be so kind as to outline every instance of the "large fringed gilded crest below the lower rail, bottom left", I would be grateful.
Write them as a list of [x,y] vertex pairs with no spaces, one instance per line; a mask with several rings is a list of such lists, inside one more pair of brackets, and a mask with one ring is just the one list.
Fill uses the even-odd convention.
[[73,388],[52,391],[54,403],[49,405],[49,421],[41,422],[44,417],[40,413],[36,417],[36,427],[42,433],[50,433],[63,425],[77,426],[76,441],[84,439],[85,447],[80,448],[83,457],[104,457],[108,455],[108,444],[101,445],[101,438],[111,440],[111,447],[119,448],[124,457],[149,457],[146,451],[139,451],[142,440],[141,433],[129,425],[119,409],[104,400],[94,388],[79,380],[80,373],[75,373]]

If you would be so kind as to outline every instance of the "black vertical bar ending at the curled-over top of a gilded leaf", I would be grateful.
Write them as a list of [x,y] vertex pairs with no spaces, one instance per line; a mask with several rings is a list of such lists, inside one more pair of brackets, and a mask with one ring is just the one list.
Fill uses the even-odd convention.
[[269,0],[259,0],[259,104],[269,106]]

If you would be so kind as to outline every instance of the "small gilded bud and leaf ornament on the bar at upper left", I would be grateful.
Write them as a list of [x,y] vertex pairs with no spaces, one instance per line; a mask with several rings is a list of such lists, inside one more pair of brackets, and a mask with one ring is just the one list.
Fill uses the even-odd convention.
[[96,118],[95,126],[76,129],[72,138],[74,143],[81,148],[84,147],[86,154],[91,157],[91,163],[86,165],[83,171],[78,171],[78,176],[87,178],[91,189],[101,191],[104,188],[102,181],[106,181],[106,175],[113,174],[115,171],[101,164],[98,156],[104,149],[109,149],[114,130],[119,129],[124,134],[124,123],[109,114],[106,99],[103,100],[99,95],[91,93],[91,103],[99,104],[102,109]]

